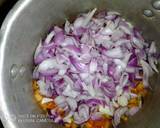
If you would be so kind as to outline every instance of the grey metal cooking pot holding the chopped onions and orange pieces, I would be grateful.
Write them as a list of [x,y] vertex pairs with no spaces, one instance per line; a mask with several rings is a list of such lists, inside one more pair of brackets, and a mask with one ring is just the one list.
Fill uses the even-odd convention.
[[[60,127],[34,120],[44,113],[31,86],[34,50],[51,26],[95,7],[120,12],[143,31],[146,40],[154,40],[160,51],[160,1],[20,0],[0,30],[0,117],[5,128]],[[141,111],[120,128],[160,128],[160,74],[155,74],[150,84],[152,89]]]

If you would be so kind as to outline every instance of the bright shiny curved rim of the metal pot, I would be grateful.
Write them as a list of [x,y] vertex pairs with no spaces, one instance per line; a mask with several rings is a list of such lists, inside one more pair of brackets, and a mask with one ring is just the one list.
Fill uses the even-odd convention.
[[12,25],[20,13],[29,5],[32,0],[19,0],[5,17],[0,28],[0,118],[5,128],[17,128],[12,120],[12,115],[9,106],[7,105],[7,94],[3,90],[5,86],[3,72],[4,72],[4,57],[7,37],[12,29]]

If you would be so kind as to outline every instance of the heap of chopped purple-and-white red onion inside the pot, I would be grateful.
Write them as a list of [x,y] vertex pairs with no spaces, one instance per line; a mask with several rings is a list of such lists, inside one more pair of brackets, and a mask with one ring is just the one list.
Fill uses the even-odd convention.
[[[63,28],[55,26],[34,55],[33,79],[37,80],[42,103],[54,101],[64,118],[49,110],[54,122],[83,124],[89,119],[134,115],[141,107],[128,109],[134,80],[149,86],[149,77],[159,72],[155,42],[150,47],[141,33],[118,12],[97,9],[81,14]],[[141,75],[143,73],[143,75]]]

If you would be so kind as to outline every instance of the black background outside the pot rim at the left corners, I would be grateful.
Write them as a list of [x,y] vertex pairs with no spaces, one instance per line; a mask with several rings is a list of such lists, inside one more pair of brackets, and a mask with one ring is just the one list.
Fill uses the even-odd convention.
[[[13,7],[13,5],[17,2],[18,0],[0,0],[0,26],[6,17],[7,13],[9,10]],[[0,121],[0,128],[3,128],[2,123]]]

